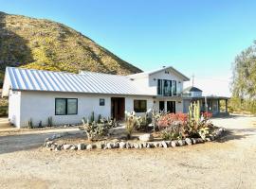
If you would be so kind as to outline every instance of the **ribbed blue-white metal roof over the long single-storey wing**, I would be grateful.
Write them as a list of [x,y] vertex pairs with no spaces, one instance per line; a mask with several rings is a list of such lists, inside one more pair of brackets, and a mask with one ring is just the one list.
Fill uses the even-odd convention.
[[82,72],[71,74],[7,67],[3,95],[17,91],[152,95],[141,92],[130,77]]

